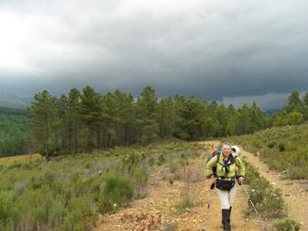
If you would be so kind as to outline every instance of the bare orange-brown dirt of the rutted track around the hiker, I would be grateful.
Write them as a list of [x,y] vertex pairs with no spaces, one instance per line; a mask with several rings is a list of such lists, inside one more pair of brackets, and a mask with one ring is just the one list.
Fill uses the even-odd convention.
[[[215,149],[220,145],[219,141],[201,142]],[[202,158],[194,159],[190,162],[189,168],[181,169],[181,178],[174,180],[171,185],[169,178],[174,178],[168,168],[161,168],[151,173],[149,176],[149,186],[147,197],[134,200],[130,207],[120,208],[117,213],[100,217],[100,221],[94,231],[116,231],[116,230],[201,230],[206,231],[223,230],[221,226],[221,209],[216,189],[210,207],[207,206],[211,195],[210,179],[206,178],[203,170],[205,167],[204,153]],[[241,149],[240,157],[249,161],[258,169],[258,171],[275,188],[281,188],[284,194],[285,202],[288,207],[288,213],[291,217],[303,222],[301,230],[308,231],[308,213],[307,213],[307,181],[287,180],[279,177],[281,173],[271,171],[267,166],[259,161],[252,153]],[[194,168],[194,169],[192,169]],[[192,169],[192,170],[191,170]],[[197,169],[197,170],[196,170]],[[200,171],[202,169],[202,171]],[[200,178],[201,177],[201,178]],[[194,181],[195,180],[195,181]],[[194,182],[193,182],[194,181]],[[188,189],[188,187],[190,189]],[[246,188],[248,190],[248,188]],[[188,192],[190,197],[194,197],[193,207],[181,207],[183,193]],[[245,210],[248,208],[248,200],[243,188],[237,188],[236,201],[232,208],[231,226],[233,231],[255,231],[264,230],[265,226],[271,226],[274,220],[259,218],[252,213],[248,218],[245,217]],[[204,226],[205,217],[207,220]],[[133,216],[134,220],[128,218]],[[143,217],[142,217],[143,216]],[[139,220],[139,221],[136,221]],[[147,225],[140,225],[142,224]],[[149,225],[151,224],[151,225]],[[146,228],[151,226],[151,228]],[[270,230],[269,228],[267,230]]]

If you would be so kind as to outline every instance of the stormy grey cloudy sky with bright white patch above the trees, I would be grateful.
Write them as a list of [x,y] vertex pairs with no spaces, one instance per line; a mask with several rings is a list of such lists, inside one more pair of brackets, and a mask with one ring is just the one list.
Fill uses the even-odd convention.
[[263,110],[308,91],[306,0],[1,0],[0,92],[90,85]]

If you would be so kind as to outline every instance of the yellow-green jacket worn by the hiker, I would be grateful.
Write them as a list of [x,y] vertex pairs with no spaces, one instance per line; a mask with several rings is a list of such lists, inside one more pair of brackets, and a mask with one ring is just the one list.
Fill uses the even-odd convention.
[[[217,157],[219,157],[218,161]],[[236,178],[236,167],[238,168],[237,177],[245,177],[245,165],[233,151],[226,166],[223,153],[210,159],[207,162],[207,176],[214,175],[213,168],[215,167],[217,168],[216,177],[219,179],[232,180]]]

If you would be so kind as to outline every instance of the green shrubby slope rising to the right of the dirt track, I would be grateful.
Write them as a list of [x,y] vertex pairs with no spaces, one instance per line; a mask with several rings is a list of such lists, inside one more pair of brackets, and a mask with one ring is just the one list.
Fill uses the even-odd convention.
[[269,168],[285,170],[288,178],[308,178],[308,124],[274,127],[230,140],[259,155]]

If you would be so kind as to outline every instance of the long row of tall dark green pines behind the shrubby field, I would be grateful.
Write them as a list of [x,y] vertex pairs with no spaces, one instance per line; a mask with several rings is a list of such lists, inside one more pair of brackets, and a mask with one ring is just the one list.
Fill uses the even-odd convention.
[[42,91],[34,95],[29,111],[31,131],[47,159],[59,153],[147,145],[158,138],[204,140],[272,126],[272,120],[255,102],[236,110],[232,104],[226,108],[193,95],[158,100],[149,85],[137,99],[119,90],[101,95],[90,86],[82,92],[71,89],[60,98]]

